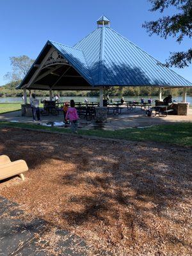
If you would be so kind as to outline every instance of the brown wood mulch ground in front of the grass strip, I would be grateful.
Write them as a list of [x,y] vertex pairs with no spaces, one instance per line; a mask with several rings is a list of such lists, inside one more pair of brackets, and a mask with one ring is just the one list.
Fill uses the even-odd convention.
[[112,255],[191,255],[191,149],[4,128],[0,153],[28,163],[0,183],[26,214]]

